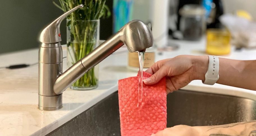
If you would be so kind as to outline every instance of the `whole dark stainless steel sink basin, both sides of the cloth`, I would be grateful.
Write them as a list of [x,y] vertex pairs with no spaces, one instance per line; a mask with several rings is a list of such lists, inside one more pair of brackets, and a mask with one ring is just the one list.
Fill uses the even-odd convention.
[[[179,90],[167,95],[167,127],[222,125],[256,120],[251,99]],[[120,135],[115,92],[48,135]]]

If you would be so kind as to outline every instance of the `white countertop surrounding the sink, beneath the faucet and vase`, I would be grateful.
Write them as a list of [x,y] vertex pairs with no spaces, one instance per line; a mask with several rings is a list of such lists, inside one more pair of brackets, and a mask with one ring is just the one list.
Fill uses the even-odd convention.
[[[156,60],[177,55],[205,55],[205,41],[170,41],[179,44],[176,51],[157,55]],[[66,50],[63,48],[63,56]],[[232,51],[225,58],[253,60],[256,50]],[[0,55],[0,67],[13,64],[33,64],[38,62],[38,49],[18,51]],[[66,59],[63,61],[66,69]],[[90,91],[67,89],[63,92],[63,108],[57,111],[40,111],[38,104],[38,66],[22,69],[0,69],[0,135],[46,135],[79,115],[92,105],[117,90],[118,79],[136,76],[127,69],[127,49],[120,48],[99,64],[99,87]],[[219,93],[246,97],[256,100],[256,92],[231,86],[204,85],[192,81],[186,90]]]

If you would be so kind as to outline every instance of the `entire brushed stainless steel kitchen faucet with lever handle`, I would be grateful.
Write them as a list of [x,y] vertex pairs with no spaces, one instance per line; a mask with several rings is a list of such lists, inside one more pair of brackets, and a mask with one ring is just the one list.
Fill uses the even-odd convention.
[[40,35],[40,42],[42,42],[38,66],[38,108],[40,110],[60,109],[62,107],[62,92],[124,44],[130,52],[142,51],[153,45],[153,36],[148,25],[140,20],[133,20],[91,53],[62,72],[60,23],[70,13],[82,7],[83,5],[79,5],[64,13],[48,25]]

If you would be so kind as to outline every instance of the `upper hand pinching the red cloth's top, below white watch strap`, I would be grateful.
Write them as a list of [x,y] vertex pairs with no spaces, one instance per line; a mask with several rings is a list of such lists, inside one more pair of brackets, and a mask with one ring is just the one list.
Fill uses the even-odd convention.
[[192,80],[204,80],[208,69],[207,56],[180,55],[156,62],[146,72],[152,74],[144,79],[146,85],[157,83],[166,76],[167,93],[178,90]]

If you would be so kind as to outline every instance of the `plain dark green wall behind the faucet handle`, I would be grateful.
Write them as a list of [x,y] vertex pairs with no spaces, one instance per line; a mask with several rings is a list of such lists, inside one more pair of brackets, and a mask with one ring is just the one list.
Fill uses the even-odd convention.
[[[38,47],[42,29],[62,13],[51,0],[0,0],[0,53]],[[64,22],[62,43],[65,29]]]

